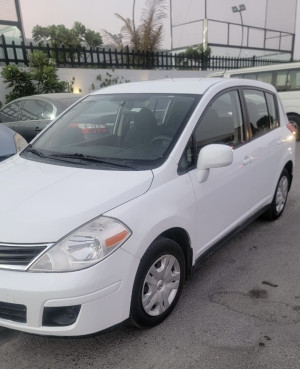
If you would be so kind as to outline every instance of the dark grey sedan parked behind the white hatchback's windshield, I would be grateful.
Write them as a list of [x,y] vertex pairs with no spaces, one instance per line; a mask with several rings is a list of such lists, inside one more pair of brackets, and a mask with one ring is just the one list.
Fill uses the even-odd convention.
[[82,96],[54,93],[21,97],[0,110],[0,123],[18,132],[29,142]]

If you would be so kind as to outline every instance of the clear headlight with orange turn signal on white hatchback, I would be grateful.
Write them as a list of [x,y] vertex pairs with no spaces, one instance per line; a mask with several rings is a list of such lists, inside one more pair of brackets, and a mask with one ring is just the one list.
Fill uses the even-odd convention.
[[131,231],[120,221],[101,216],[68,234],[30,268],[35,272],[70,272],[88,268],[119,248]]

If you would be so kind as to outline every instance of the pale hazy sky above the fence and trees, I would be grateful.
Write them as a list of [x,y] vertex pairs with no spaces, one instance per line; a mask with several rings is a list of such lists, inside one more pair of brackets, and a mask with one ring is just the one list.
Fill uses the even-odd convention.
[[[125,18],[132,18],[133,4],[135,4],[135,20],[138,24],[145,1],[19,0],[26,38],[31,38],[31,31],[35,25],[64,24],[67,28],[71,28],[75,21],[79,21],[87,28],[100,32],[101,35],[103,35],[103,29],[116,34],[120,32],[122,22],[114,13],[119,13]],[[242,1],[247,9],[242,13],[245,25],[258,27],[267,25],[271,29],[274,29],[274,27],[276,29],[284,28],[293,32],[293,25],[296,19],[295,58],[300,59],[300,1],[295,13],[296,0],[172,0],[173,24],[202,19],[204,17],[205,2],[207,4],[208,18],[240,24],[240,14],[232,13],[231,6],[239,5]],[[275,4],[276,2],[277,5]],[[169,8],[170,1],[166,0],[166,4]],[[278,10],[278,7],[281,7],[281,9]],[[269,18],[265,17],[266,9],[268,9]],[[223,41],[226,32],[223,31],[222,24],[216,23],[215,29],[216,41]],[[170,49],[169,17],[165,20],[164,30],[163,47]],[[200,43],[201,37],[199,39],[199,34],[202,34],[202,28],[199,28],[199,23],[173,28],[173,46],[180,47],[188,41]],[[219,37],[223,37],[223,39]],[[241,29],[238,27],[235,30],[233,29],[231,37],[235,37],[238,44],[239,40],[241,40]],[[252,35],[252,37],[260,38],[259,35]],[[246,42],[246,34],[244,34],[244,42]]]

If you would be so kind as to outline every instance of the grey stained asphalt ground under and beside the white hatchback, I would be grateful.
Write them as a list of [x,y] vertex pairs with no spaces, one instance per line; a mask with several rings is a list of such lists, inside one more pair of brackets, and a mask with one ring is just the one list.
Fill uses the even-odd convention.
[[297,149],[284,215],[255,221],[199,264],[160,326],[125,324],[74,339],[1,329],[1,369],[299,369],[300,143]]

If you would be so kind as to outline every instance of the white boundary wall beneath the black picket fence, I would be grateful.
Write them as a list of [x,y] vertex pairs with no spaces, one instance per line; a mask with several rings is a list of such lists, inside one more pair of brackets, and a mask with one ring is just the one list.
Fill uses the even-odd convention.
[[[1,73],[2,67],[0,67]],[[112,74],[112,78],[119,76],[130,82],[154,80],[160,78],[192,78],[205,77],[208,71],[177,71],[177,70],[133,70],[133,69],[80,69],[80,68],[60,68],[58,75],[62,81],[71,81],[75,77],[74,92],[82,90],[84,94],[91,91],[92,84],[99,88],[100,82],[97,76],[100,74],[102,79],[107,78],[107,74]],[[9,92],[0,76],[0,101],[5,102],[5,95]]]

